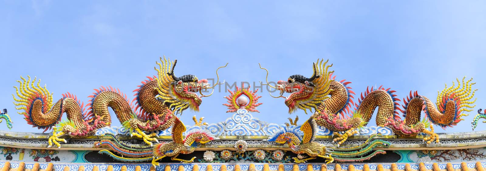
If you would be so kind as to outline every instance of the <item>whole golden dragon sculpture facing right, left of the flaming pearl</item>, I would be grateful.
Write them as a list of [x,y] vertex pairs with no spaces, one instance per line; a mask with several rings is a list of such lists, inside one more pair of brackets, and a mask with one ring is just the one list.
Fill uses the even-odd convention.
[[[135,98],[129,101],[127,96],[111,86],[102,86],[94,89],[96,92],[88,96],[91,98],[87,105],[81,103],[71,93],[63,94],[63,98],[53,103],[52,93],[46,86],[40,86],[40,79],[35,85],[36,78],[31,80],[17,81],[20,86],[14,86],[17,97],[14,100],[18,112],[25,116],[25,120],[44,132],[53,128],[52,136],[49,138],[49,147],[55,144],[61,147],[60,138],[67,135],[79,138],[88,137],[96,133],[102,127],[110,126],[112,122],[108,107],[115,112],[123,127],[131,131],[131,136],[142,138],[147,144],[157,141],[155,133],[147,135],[145,131],[165,130],[174,122],[174,112],[181,114],[189,108],[193,111],[199,110],[202,97],[207,97],[214,92],[214,87],[219,84],[218,69],[216,84],[208,84],[207,79],[199,80],[195,75],[184,75],[176,77],[174,68],[177,60],[171,61],[165,57],[156,62],[158,68],[157,76],[147,77],[139,88],[134,90]],[[203,95],[203,90],[212,89],[209,95]],[[201,96],[196,93],[199,92]],[[66,121],[61,121],[62,115],[66,113]]]

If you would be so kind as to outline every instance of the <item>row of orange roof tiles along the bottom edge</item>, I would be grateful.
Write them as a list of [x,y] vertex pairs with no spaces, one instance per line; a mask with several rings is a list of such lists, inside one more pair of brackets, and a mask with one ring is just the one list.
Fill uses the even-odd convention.
[[[45,166],[45,163],[41,163],[41,164],[44,164],[44,166],[46,167],[45,170],[42,170],[40,169],[40,164],[39,163],[34,163],[33,165],[32,164],[29,164],[32,169],[26,169],[26,163],[25,162],[20,162],[20,163],[11,163],[9,161],[4,161],[4,166],[0,169],[0,171],[53,171],[54,168],[56,168],[54,164],[52,163],[49,163],[47,166]],[[427,163],[427,166],[424,164],[424,163],[419,163],[418,164],[418,167],[417,167],[417,164],[416,163],[406,163],[405,166],[403,166],[402,163],[399,163],[402,167],[403,170],[400,170],[399,169],[399,166],[397,165],[397,163],[386,163],[386,164],[373,164],[373,166],[376,166],[374,168],[376,168],[376,170],[370,170],[370,167],[368,164],[364,164],[364,165],[361,165],[361,164],[355,164],[355,165],[358,165],[358,166],[362,166],[362,170],[358,170],[356,169],[355,165],[353,164],[346,164],[346,163],[341,163],[341,164],[330,164],[331,168],[333,168],[334,171],[485,171],[484,170],[484,167],[482,166],[483,164],[486,165],[486,161],[477,161],[477,162],[469,162],[469,163],[466,163],[466,162],[462,162],[462,163],[456,163],[454,165],[460,165],[460,168],[455,168],[453,167],[453,165],[451,163],[432,163],[432,167],[431,167],[431,163]],[[412,169],[411,167],[411,164],[412,165],[415,165],[417,170],[414,170]],[[79,164],[78,164],[79,165]],[[78,166],[76,164],[73,164],[73,166]],[[89,163],[86,163],[87,166],[89,166]],[[79,166],[77,168],[77,171],[142,171],[142,166],[135,166],[133,167],[133,164],[126,164],[126,165],[122,165],[120,167],[120,164],[116,164],[118,165],[117,168],[119,168],[119,170],[115,170],[114,166],[113,165],[107,165],[106,169],[105,170],[100,170],[100,167],[96,165],[96,163],[93,163],[93,167],[91,170],[85,170],[85,166]],[[131,165],[130,168],[134,168],[134,169],[131,169],[129,170],[127,166]],[[242,167],[240,165],[244,165],[245,170],[243,171],[275,171],[275,170],[270,170],[270,165],[269,164],[263,164],[263,166],[260,164],[259,166],[260,167],[257,167],[256,164],[253,164],[253,163],[241,163],[241,164],[222,164],[222,163],[218,163],[217,166],[219,167],[213,167],[211,164],[208,164],[208,163],[197,163],[197,164],[189,164],[191,165],[191,167],[187,167],[186,165],[181,165],[181,164],[178,164],[178,163],[167,163],[166,166],[164,166],[164,171],[171,171],[172,169],[171,168],[174,168],[174,166],[176,166],[175,168],[177,168],[176,170],[177,171],[227,171],[227,166],[228,165],[231,165],[233,166],[233,171],[242,171]],[[441,165],[443,169],[441,169],[441,167],[439,166]],[[445,167],[444,167],[445,165]],[[64,166],[63,170],[64,171],[70,171],[71,168],[69,167],[69,164],[68,166],[66,166],[66,164],[62,164],[62,165],[59,165],[59,166]],[[105,165],[106,166],[106,165]],[[275,166],[275,165],[274,165]],[[283,164],[279,164],[278,167],[275,167],[275,169],[277,171],[328,171],[328,165],[326,164],[322,164],[320,165],[318,168],[315,167],[316,165],[315,164],[306,164],[306,165],[302,165],[302,164],[286,164],[286,165],[283,165]],[[345,166],[345,167],[343,167]],[[387,166],[386,168],[388,169],[385,169],[384,166]],[[305,167],[305,169],[303,169],[303,167]],[[174,169],[175,169],[174,168]],[[429,169],[427,169],[429,168]],[[150,171],[155,171],[155,168],[154,167],[150,167],[150,168],[147,168],[148,170]],[[317,169],[317,170],[315,170]]]

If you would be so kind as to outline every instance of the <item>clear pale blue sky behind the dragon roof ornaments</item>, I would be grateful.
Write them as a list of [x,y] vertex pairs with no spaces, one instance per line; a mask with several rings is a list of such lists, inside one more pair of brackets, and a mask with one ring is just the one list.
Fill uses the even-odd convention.
[[[13,131],[41,132],[16,114],[11,94],[20,75],[37,76],[54,99],[67,91],[82,101],[93,88],[111,85],[131,95],[159,56],[178,59],[176,74],[228,82],[285,80],[312,75],[312,62],[330,59],[337,79],[356,93],[384,85],[399,98],[410,90],[435,100],[456,77],[474,77],[477,107],[458,126],[436,132],[471,131],[476,110],[486,107],[485,1],[0,1],[0,107],[9,109]],[[223,98],[205,98],[209,123],[230,117]],[[283,99],[267,92],[261,120],[284,123]],[[66,118],[64,116],[64,118]],[[114,125],[119,125],[112,115]],[[374,118],[374,117],[373,117]],[[368,125],[375,125],[374,119]],[[6,129],[2,123],[1,129]],[[476,130],[485,130],[480,124]]]

